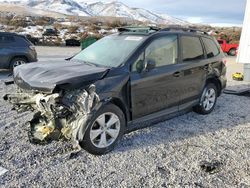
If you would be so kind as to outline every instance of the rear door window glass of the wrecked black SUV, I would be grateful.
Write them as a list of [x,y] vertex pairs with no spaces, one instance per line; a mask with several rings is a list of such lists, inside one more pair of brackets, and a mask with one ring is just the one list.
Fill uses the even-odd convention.
[[183,61],[204,59],[203,48],[198,37],[182,36],[181,44]]

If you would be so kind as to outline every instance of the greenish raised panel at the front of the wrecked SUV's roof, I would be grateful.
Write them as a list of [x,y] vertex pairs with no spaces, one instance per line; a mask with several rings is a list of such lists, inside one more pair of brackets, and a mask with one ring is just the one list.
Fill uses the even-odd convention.
[[118,32],[133,32],[133,33],[153,33],[160,31],[161,28],[159,27],[118,27],[117,28]]

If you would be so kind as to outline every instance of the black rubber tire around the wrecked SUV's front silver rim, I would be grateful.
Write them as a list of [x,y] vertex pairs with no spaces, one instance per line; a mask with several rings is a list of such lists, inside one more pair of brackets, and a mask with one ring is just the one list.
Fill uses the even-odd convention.
[[[106,113],[112,113],[112,114],[115,114],[118,118],[119,118],[119,121],[120,121],[120,129],[119,129],[119,133],[118,133],[118,136],[116,139],[113,139],[114,141],[112,142],[112,144],[110,144],[109,146],[107,147],[103,147],[103,148],[100,148],[100,147],[97,147],[96,145],[94,145],[94,143],[91,141],[91,135],[90,135],[90,132],[91,130],[93,131],[93,127],[98,125],[98,123],[96,122],[96,120],[102,116],[103,114],[106,114]],[[106,121],[106,117],[105,117],[105,121]],[[106,123],[105,123],[106,124]],[[123,112],[121,111],[121,109],[119,107],[117,107],[116,105],[114,104],[107,104],[107,105],[104,105],[103,107],[101,107],[97,113],[95,113],[93,115],[93,117],[91,117],[91,120],[89,121],[88,123],[88,127],[87,127],[87,130],[85,132],[85,135],[84,135],[84,139],[82,142],[80,142],[80,146],[85,149],[86,151],[88,151],[89,153],[91,154],[94,154],[94,155],[103,155],[103,154],[106,154],[108,152],[110,152],[111,150],[113,150],[113,148],[115,147],[115,145],[117,144],[117,142],[121,139],[121,137],[123,136],[124,132],[125,132],[125,126],[126,125],[126,122],[125,122],[125,116],[123,114]],[[99,129],[98,129],[99,130]],[[101,133],[99,136],[99,140],[101,140],[101,135],[103,133]],[[105,132],[106,136],[105,138],[107,137],[107,133]],[[109,135],[108,135],[109,136]],[[98,139],[97,139],[98,140]],[[100,141],[101,142],[101,141]],[[107,143],[107,142],[106,142]]]

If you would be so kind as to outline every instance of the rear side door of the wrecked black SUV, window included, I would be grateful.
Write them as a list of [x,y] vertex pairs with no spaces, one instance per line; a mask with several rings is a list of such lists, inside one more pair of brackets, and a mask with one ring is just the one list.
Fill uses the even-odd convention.
[[180,108],[192,106],[200,98],[206,82],[209,61],[206,59],[200,37],[182,35],[181,41],[181,95]]

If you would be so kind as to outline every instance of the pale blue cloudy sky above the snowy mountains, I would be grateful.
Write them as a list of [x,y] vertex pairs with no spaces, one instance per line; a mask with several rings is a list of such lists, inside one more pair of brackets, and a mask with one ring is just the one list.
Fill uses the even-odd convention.
[[[105,0],[104,0],[105,1]],[[107,0],[110,1],[110,0]],[[119,0],[130,7],[168,14],[191,23],[241,26],[246,0]]]

